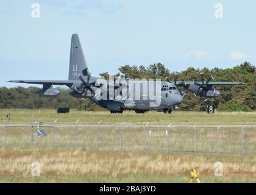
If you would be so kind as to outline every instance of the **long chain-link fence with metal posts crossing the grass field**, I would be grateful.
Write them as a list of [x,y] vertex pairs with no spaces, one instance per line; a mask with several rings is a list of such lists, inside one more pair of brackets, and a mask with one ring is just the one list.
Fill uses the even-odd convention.
[[[47,136],[40,135],[44,130]],[[2,147],[256,155],[256,125],[1,124]]]

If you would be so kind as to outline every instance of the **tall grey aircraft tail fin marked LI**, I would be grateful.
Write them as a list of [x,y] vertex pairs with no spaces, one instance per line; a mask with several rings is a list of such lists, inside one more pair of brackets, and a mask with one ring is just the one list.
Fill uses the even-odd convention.
[[79,80],[79,74],[88,76],[89,72],[79,37],[77,34],[73,34],[71,38],[68,80]]

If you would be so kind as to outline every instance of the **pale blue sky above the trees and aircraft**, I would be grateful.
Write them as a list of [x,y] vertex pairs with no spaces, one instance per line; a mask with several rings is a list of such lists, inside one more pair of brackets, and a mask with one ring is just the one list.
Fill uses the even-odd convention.
[[255,65],[255,7],[253,0],[1,0],[0,87],[67,80],[73,33],[93,76],[158,62],[170,71]]

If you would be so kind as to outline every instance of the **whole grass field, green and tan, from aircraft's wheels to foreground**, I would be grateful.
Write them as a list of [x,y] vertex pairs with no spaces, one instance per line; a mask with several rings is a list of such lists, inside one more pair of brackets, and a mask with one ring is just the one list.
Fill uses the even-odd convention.
[[[9,123],[30,122],[31,115],[35,121],[53,122],[59,118],[59,123],[118,123],[118,122],[152,122],[163,124],[256,124],[256,113],[225,113],[217,112],[207,115],[204,112],[173,112],[171,115],[149,112],[138,115],[124,112],[123,115],[110,115],[108,112],[77,112],[57,114],[55,110],[0,110],[2,118],[10,113]],[[187,122],[188,121],[188,122]],[[8,127],[11,128],[11,127]],[[23,128],[23,127],[22,127]],[[254,155],[241,157],[240,129],[220,130],[220,149],[223,154],[216,157],[216,129],[196,129],[197,151],[212,150],[213,154],[191,152],[146,152],[143,153],[143,131],[124,129],[124,147],[138,147],[137,151],[93,151],[90,146],[96,146],[95,129],[78,129],[75,147],[41,147],[51,146],[52,130],[46,129],[48,138],[30,146],[29,129],[9,129],[7,143],[23,143],[23,147],[3,147],[0,149],[0,182],[189,182],[190,169],[196,168],[202,182],[256,182],[256,130],[247,129],[244,134],[244,151]],[[119,147],[119,129],[104,129],[101,133],[101,144],[107,147]],[[130,131],[129,133],[127,133]],[[3,132],[0,128],[0,132]],[[21,133],[22,132],[22,133]],[[173,129],[171,149],[190,150],[191,131]],[[74,146],[73,129],[57,129],[56,144]],[[130,136],[132,133],[132,136]],[[17,136],[19,135],[19,136]],[[147,149],[166,149],[165,129],[152,130],[148,137]],[[3,142],[0,133],[0,141]],[[92,145],[90,145],[90,144]],[[41,144],[41,145],[40,145]],[[237,152],[229,154],[226,152]],[[40,163],[40,177],[31,176],[32,162]],[[215,162],[224,165],[224,176],[216,177]]]

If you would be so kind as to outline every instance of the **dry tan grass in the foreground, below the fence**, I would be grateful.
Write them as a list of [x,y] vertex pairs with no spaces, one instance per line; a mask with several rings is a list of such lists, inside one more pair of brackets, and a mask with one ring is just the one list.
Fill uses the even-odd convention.
[[[140,154],[124,152],[87,152],[82,150],[63,151],[47,149],[8,149],[0,152],[0,176],[30,177],[31,163],[38,161],[41,166],[41,176],[51,178],[56,176],[82,177],[84,182],[99,182],[88,180],[87,176],[108,177],[108,182],[124,179],[130,176],[160,177],[162,180],[171,177],[185,176],[189,178],[190,169],[196,168],[199,176],[205,182],[216,181],[214,163],[222,161],[224,177],[246,177],[256,181],[256,157],[225,156],[216,158],[213,155],[184,154]],[[61,182],[62,177],[57,181]],[[210,179],[209,179],[210,178]],[[155,181],[152,179],[152,181]],[[225,181],[225,180],[224,180]],[[144,182],[135,179],[133,182]],[[151,182],[151,180],[149,180]],[[187,182],[183,180],[180,182]],[[232,180],[226,180],[232,182]]]

